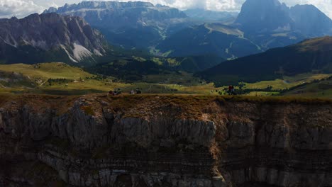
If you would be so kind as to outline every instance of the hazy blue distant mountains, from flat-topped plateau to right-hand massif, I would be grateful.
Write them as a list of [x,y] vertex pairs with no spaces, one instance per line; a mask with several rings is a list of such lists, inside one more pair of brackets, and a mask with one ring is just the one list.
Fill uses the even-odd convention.
[[112,45],[164,57],[212,54],[233,59],[332,33],[331,19],[315,6],[288,7],[278,0],[247,0],[238,15],[179,11],[141,1],[83,1],[44,13],[50,12],[84,18]]

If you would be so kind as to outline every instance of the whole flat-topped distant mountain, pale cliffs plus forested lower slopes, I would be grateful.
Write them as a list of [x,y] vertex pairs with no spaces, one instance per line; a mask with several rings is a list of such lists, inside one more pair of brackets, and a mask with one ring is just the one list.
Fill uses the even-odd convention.
[[177,8],[154,6],[142,1],[82,1],[44,11],[50,12],[82,17],[101,30],[112,44],[128,49],[155,45],[165,38],[167,32],[184,27],[178,23],[187,18]]

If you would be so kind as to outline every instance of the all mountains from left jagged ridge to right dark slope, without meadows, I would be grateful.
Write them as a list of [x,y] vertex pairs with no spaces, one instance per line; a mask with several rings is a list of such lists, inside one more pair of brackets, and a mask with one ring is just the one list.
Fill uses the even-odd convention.
[[79,62],[112,76],[180,70],[235,82],[330,71],[328,47],[303,50],[311,41],[329,41],[305,40],[331,33],[331,19],[318,8],[247,0],[234,23],[221,21],[232,15],[140,1],[66,4],[40,15],[0,19],[0,62]]

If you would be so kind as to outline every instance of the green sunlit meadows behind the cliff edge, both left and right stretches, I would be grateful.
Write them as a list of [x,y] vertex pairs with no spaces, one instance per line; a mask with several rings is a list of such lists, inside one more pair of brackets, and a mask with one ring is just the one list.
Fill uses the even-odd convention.
[[[103,93],[119,88],[124,93],[140,89],[144,94],[218,95],[226,94],[225,90],[228,87],[228,85],[224,85],[216,88],[212,83],[207,84],[205,81],[193,77],[192,74],[181,71],[169,75],[150,74],[143,77],[143,81],[135,81],[133,84],[129,84],[113,77],[98,77],[84,72],[83,69],[78,67],[71,67],[57,62],[35,65],[0,65],[0,72],[3,72],[0,74],[0,93],[15,94],[28,92],[33,94],[82,95]],[[4,77],[11,74],[19,74],[19,76],[16,76],[15,80],[10,80],[11,77]],[[317,81],[328,79],[330,76],[331,74],[297,74],[294,77],[283,77],[283,79],[273,81],[245,83],[243,89],[266,89],[272,86],[270,91],[249,91],[245,93],[247,96],[278,96],[283,94],[287,96],[331,98],[332,86],[330,81]],[[67,79],[70,81],[53,81],[50,83],[49,79]],[[315,82],[312,83],[313,81]],[[236,86],[236,89],[239,89],[238,86]]]

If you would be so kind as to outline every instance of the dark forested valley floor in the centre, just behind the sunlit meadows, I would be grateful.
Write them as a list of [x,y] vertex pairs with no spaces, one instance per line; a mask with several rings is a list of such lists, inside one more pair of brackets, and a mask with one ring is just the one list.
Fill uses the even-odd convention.
[[151,74],[170,75],[177,71],[199,72],[223,61],[223,58],[211,55],[176,58],[114,57],[113,60],[101,62],[86,69],[92,74],[104,74],[127,81],[140,81],[145,75]]

